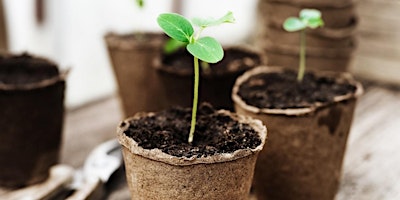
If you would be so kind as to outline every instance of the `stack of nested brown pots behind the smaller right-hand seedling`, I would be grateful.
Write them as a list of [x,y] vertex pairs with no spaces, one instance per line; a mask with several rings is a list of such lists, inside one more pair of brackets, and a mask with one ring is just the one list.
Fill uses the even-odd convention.
[[297,17],[301,9],[313,8],[321,11],[324,26],[306,30],[307,69],[347,71],[355,49],[354,0],[261,0],[258,8],[257,44],[269,65],[298,68],[300,33],[286,32],[282,24],[288,17]]

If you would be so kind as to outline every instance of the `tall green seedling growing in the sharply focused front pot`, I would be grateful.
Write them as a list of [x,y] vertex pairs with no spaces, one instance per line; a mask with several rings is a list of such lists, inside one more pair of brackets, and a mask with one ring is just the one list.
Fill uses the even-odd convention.
[[[161,14],[157,18],[158,25],[172,39],[186,45],[186,50],[194,58],[194,96],[192,107],[192,120],[188,142],[193,142],[196,127],[196,114],[199,90],[199,60],[207,63],[217,63],[224,57],[221,44],[212,37],[200,37],[201,32],[210,26],[217,26],[223,23],[233,23],[235,21],[232,12],[219,19],[193,19],[192,23],[199,27],[195,32],[192,23],[185,17],[175,13]],[[179,46],[179,45],[178,45]]]

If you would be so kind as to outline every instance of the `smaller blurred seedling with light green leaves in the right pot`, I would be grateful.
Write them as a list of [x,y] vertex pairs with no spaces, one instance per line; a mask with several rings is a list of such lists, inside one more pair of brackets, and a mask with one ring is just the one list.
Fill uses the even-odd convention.
[[297,17],[289,17],[283,23],[283,29],[288,32],[300,31],[300,60],[297,80],[301,82],[306,68],[306,28],[318,28],[324,25],[321,12],[316,9],[302,9]]

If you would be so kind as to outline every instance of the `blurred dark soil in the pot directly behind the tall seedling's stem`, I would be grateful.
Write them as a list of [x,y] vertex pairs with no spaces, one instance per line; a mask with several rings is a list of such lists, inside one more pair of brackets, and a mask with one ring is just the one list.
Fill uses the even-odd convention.
[[[186,74],[193,74],[193,56],[180,49],[172,54],[163,55],[163,67],[171,70],[183,70]],[[224,49],[224,58],[215,64],[209,64],[209,70],[200,67],[202,74],[223,75],[227,72],[245,71],[251,67],[261,64],[261,58],[258,54],[241,50],[239,48]],[[200,61],[200,65],[202,62]]]

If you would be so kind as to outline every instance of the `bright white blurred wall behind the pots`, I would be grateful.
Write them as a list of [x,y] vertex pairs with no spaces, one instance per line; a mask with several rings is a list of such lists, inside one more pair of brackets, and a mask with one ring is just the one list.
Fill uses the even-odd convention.
[[[143,10],[134,0],[45,0],[45,21],[37,24],[33,0],[4,0],[9,47],[28,51],[71,68],[67,106],[75,107],[115,93],[116,84],[103,36],[109,32],[160,30],[156,17],[170,12],[172,0],[146,0]],[[235,24],[210,28],[205,34],[223,44],[236,44],[253,31],[257,0],[181,0],[182,14],[219,17],[233,11]]]

